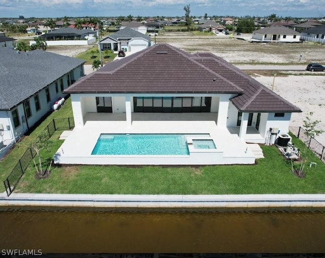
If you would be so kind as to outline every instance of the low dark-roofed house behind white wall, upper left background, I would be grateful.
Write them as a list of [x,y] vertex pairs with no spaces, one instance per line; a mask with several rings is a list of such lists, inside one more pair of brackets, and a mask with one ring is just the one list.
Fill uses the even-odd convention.
[[94,38],[96,31],[91,29],[75,29],[75,28],[60,28],[52,30],[49,33],[40,36],[45,41],[55,40],[85,40],[87,38]]

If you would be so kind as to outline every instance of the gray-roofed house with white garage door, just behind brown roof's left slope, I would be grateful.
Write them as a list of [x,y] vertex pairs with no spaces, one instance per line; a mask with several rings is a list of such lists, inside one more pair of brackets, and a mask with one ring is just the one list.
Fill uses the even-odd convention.
[[125,52],[138,52],[152,45],[150,36],[131,28],[123,28],[101,40],[101,51],[124,50]]

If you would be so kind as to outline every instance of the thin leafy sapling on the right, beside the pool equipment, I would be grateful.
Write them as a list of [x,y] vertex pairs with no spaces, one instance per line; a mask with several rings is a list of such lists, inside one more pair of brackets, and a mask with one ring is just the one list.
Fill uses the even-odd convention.
[[304,134],[305,134],[306,138],[304,140],[304,143],[305,143],[304,150],[301,153],[301,162],[300,162],[299,169],[297,169],[297,170],[294,169],[294,166],[293,166],[293,163],[291,160],[291,169],[293,170],[293,173],[295,173],[298,177],[304,177],[304,175],[305,175],[304,168],[307,163],[306,150],[307,150],[307,148],[309,148],[311,140],[313,138],[315,138],[315,136],[324,132],[323,130],[316,129],[316,126],[320,123],[320,121],[319,120],[312,121],[311,120],[312,115],[313,115],[313,112],[310,112],[306,116],[306,119],[304,120],[304,129],[305,129]]

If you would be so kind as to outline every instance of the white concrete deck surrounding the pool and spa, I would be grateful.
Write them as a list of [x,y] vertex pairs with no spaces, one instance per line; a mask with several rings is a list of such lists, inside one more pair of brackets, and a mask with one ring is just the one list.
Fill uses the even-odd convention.
[[[134,116],[131,125],[124,120],[125,114],[87,114],[85,125],[76,127],[64,140],[55,156],[58,164],[114,164],[114,165],[214,165],[214,164],[254,164],[255,156],[249,145],[227,128],[215,123],[215,113],[200,114],[164,114],[159,120],[155,117]],[[209,117],[208,117],[209,116]],[[201,119],[200,119],[201,118]],[[177,119],[177,120],[173,120]],[[146,155],[91,155],[101,134],[209,134],[216,150],[192,150],[183,156],[146,156]],[[251,134],[256,135],[256,134]]]

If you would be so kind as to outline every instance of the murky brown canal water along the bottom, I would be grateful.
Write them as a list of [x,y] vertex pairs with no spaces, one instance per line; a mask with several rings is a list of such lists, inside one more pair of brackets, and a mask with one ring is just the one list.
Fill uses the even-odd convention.
[[325,252],[325,209],[0,208],[2,249],[43,253]]

